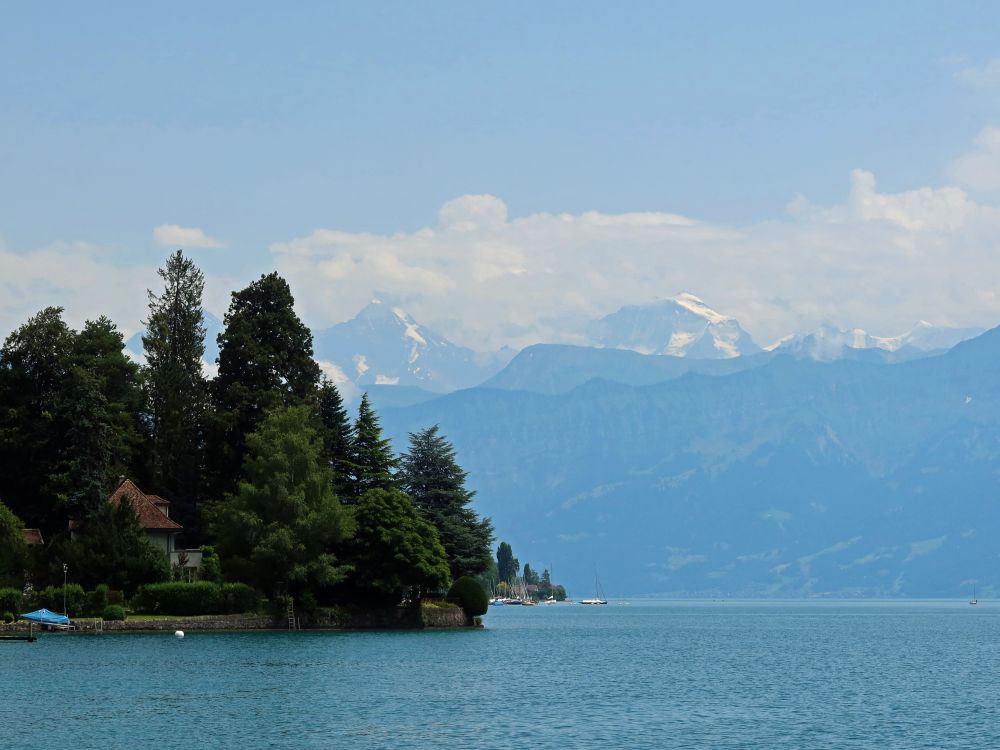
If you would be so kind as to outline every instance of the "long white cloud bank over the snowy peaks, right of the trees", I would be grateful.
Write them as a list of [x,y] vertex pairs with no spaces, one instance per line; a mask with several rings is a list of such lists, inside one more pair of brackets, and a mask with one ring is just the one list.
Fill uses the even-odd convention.
[[318,229],[271,246],[323,328],[382,290],[474,349],[584,343],[586,321],[691,291],[761,344],[824,322],[896,335],[915,321],[1000,322],[1000,211],[959,187],[880,191],[855,170],[844,201],[799,196],[743,227],[668,212],[510,216],[495,196],[446,203],[413,232]]

